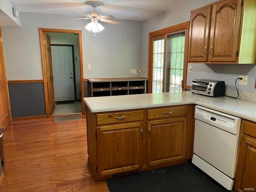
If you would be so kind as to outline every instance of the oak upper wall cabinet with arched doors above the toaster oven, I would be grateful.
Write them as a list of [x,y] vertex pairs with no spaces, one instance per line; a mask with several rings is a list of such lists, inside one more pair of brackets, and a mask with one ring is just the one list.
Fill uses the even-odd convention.
[[256,0],[220,0],[191,12],[188,62],[256,63]]

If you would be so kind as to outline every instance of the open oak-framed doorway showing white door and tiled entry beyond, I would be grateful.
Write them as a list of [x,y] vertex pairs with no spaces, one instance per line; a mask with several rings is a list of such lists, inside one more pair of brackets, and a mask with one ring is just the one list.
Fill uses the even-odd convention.
[[84,114],[82,32],[39,29],[46,116]]

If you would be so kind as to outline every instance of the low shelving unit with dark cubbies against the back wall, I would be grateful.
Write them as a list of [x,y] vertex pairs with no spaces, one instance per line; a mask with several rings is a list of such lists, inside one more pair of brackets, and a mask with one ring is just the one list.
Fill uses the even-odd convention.
[[144,94],[147,88],[146,78],[88,79],[90,96],[116,96]]

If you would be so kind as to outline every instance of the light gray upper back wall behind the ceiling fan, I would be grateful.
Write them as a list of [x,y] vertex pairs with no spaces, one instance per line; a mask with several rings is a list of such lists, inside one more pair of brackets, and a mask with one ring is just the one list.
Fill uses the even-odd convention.
[[141,68],[142,22],[120,20],[120,26],[102,23],[105,29],[94,36],[84,29],[88,20],[68,21],[74,18],[21,12],[20,28],[2,27],[8,80],[43,78],[38,28],[82,30],[84,78],[136,76],[130,69]]

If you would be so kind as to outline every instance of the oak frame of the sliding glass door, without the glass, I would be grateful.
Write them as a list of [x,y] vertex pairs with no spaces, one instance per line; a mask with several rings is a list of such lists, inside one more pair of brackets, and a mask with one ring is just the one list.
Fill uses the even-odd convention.
[[[154,32],[150,32],[148,34],[148,93],[152,93],[152,73],[153,73],[153,39],[155,36],[164,35],[164,68],[165,68],[165,61],[166,61],[166,37],[168,34],[178,33],[185,31],[185,53],[184,53],[184,86],[182,91],[186,90],[186,80],[187,80],[187,67],[188,67],[188,38],[189,38],[189,21],[180,23],[178,25],[174,25],[171,27],[167,27],[164,29],[160,29]],[[164,69],[165,72],[165,69]],[[163,91],[164,91],[164,77],[163,76]]]

